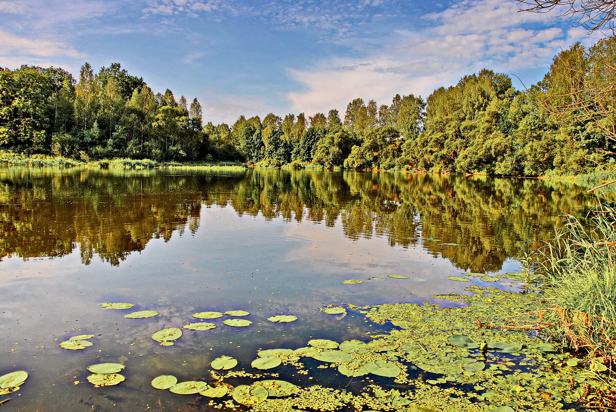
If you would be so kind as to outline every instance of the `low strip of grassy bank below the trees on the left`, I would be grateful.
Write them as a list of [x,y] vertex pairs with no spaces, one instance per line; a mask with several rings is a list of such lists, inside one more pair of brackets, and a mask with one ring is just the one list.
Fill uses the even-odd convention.
[[195,161],[187,163],[158,162],[150,159],[112,159],[81,161],[63,157],[44,155],[20,155],[17,153],[0,152],[0,166],[26,166],[34,168],[98,168],[98,169],[191,169],[191,170],[224,170],[241,171],[246,164],[236,162],[206,162]]

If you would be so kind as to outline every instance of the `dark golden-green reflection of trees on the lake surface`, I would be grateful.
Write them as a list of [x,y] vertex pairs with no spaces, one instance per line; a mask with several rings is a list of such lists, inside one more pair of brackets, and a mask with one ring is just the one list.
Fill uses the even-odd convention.
[[[423,243],[460,269],[499,270],[549,238],[559,214],[580,214],[590,202],[564,183],[383,172],[0,169],[0,179],[0,257],[63,256],[79,247],[84,264],[98,255],[117,265],[151,238],[195,232],[203,203],[329,227],[340,219],[352,240]],[[443,248],[429,236],[460,246]]]

